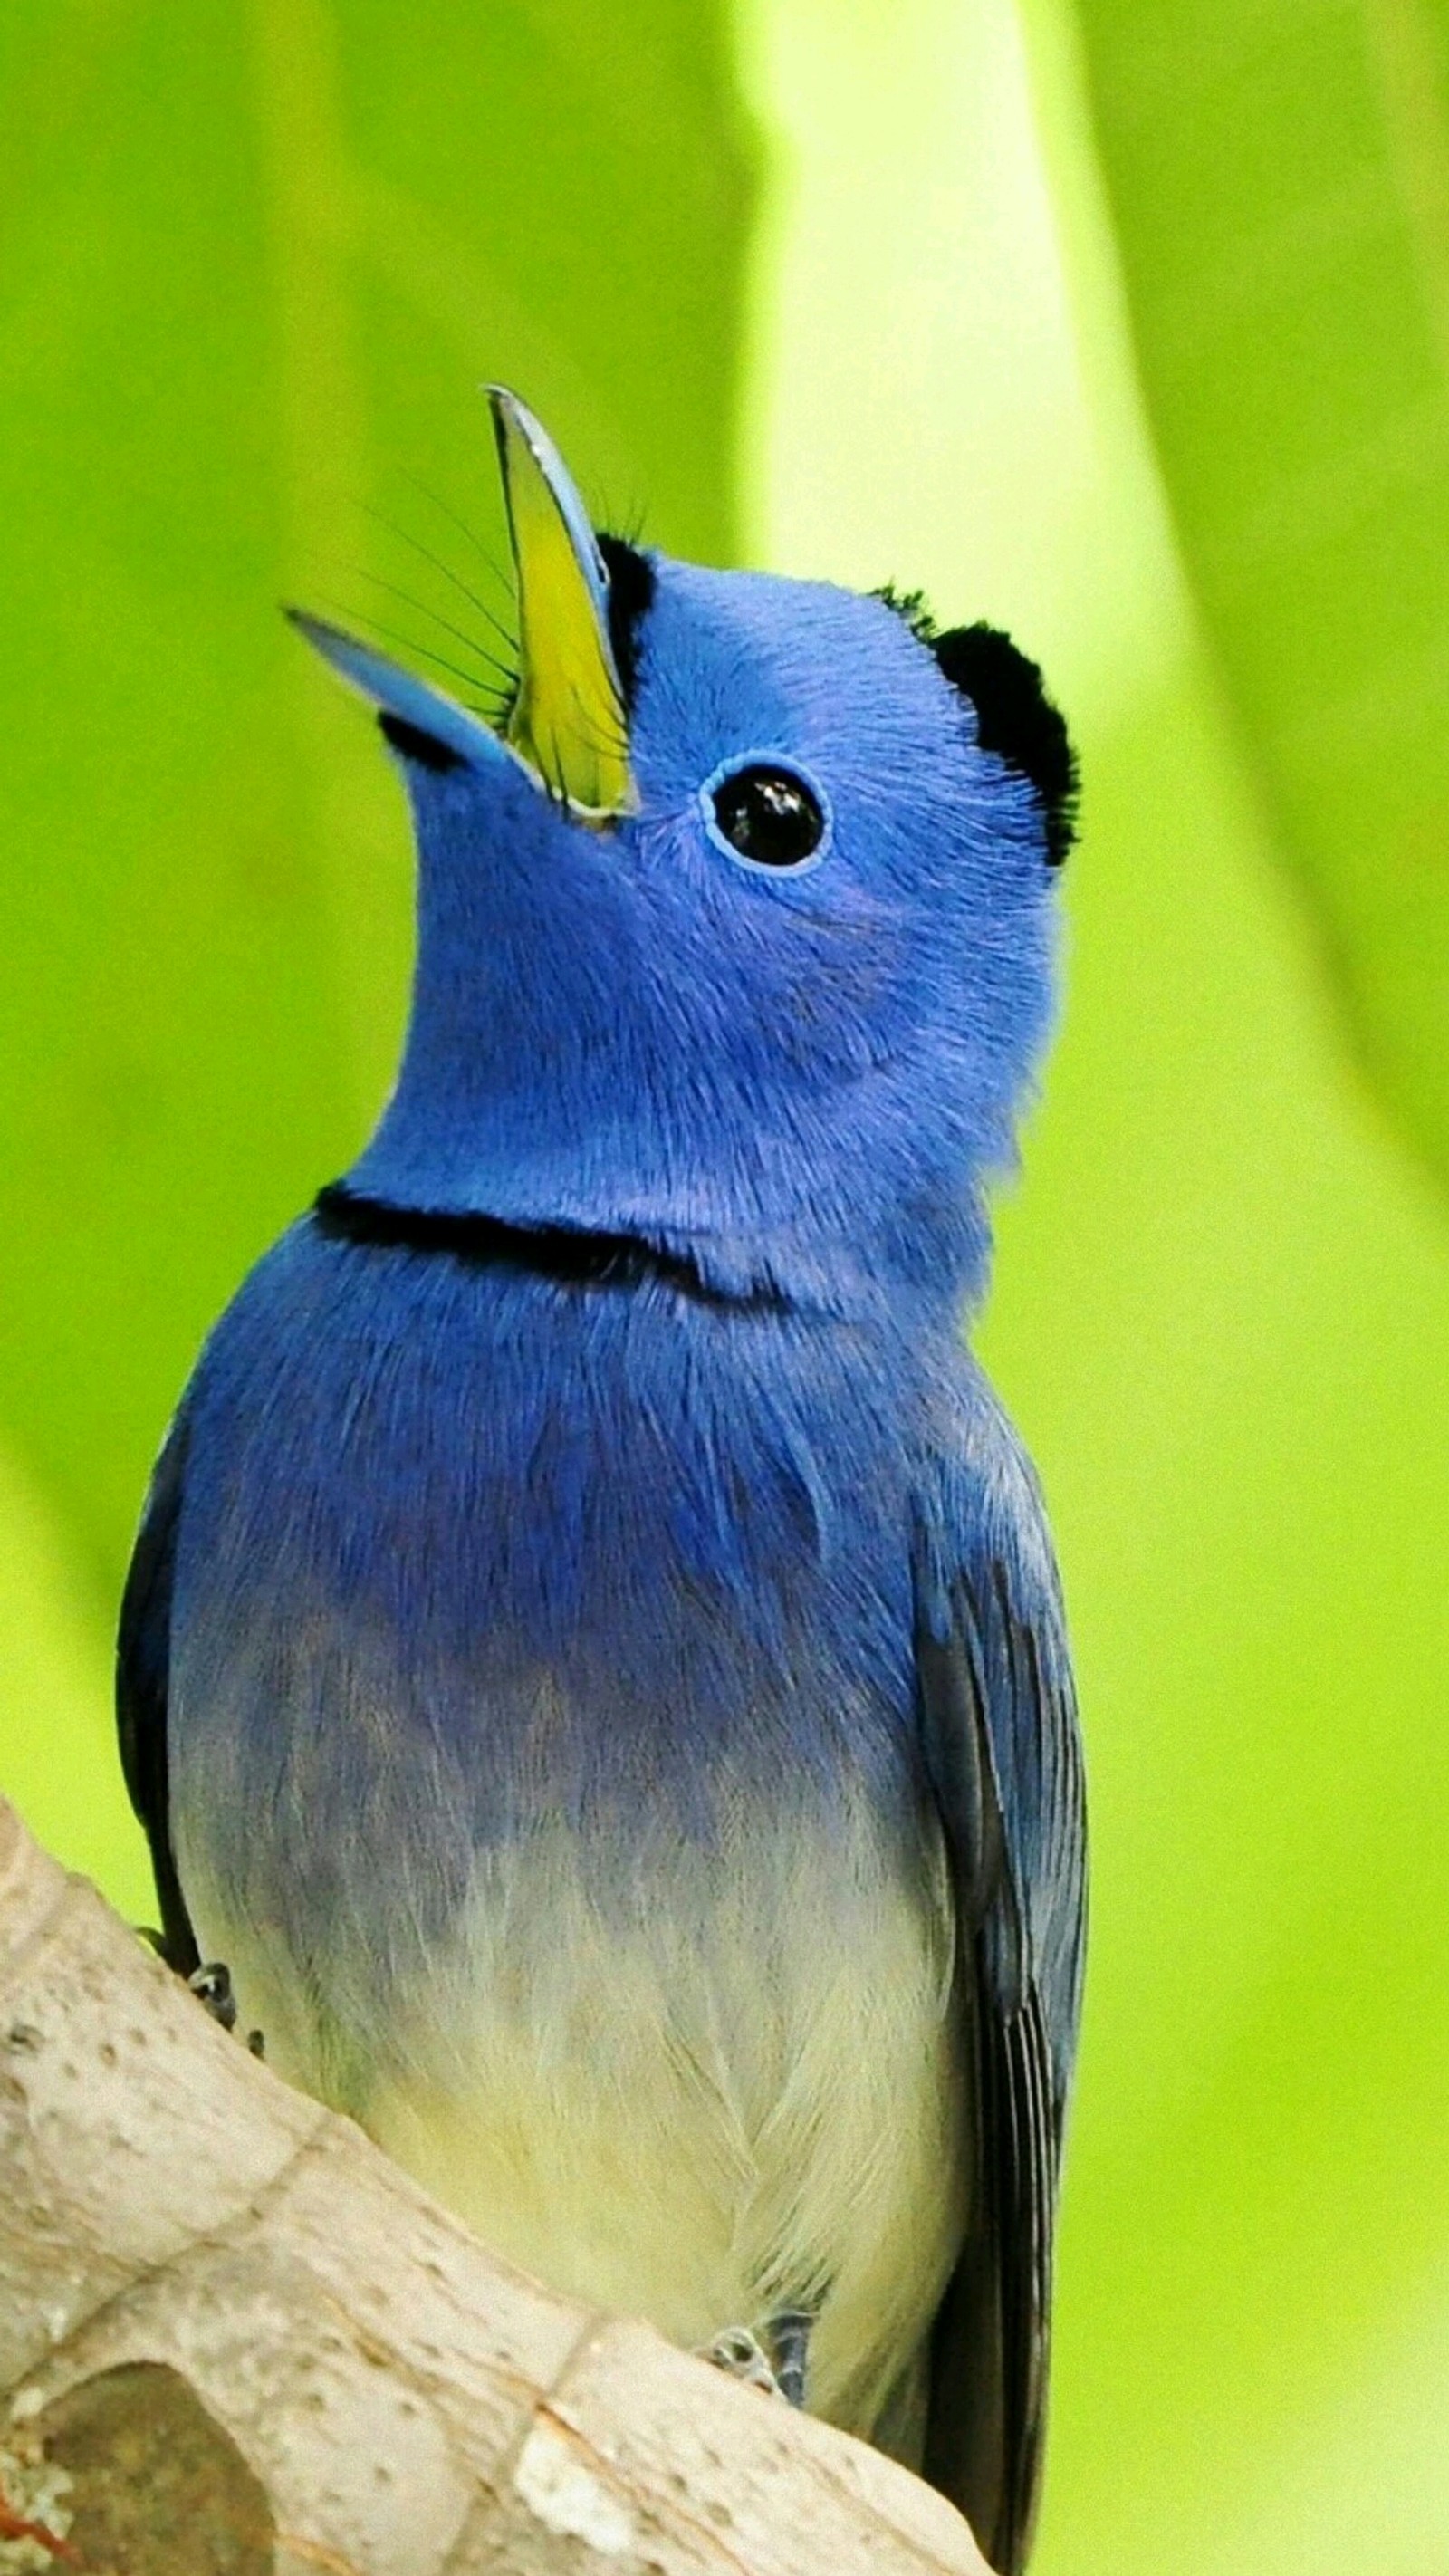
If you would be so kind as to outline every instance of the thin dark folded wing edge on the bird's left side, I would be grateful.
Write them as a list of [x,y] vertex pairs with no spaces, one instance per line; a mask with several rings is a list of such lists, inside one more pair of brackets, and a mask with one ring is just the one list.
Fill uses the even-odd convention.
[[131,1806],[152,1847],[162,1953],[180,1976],[190,1976],[201,1965],[201,1955],[175,1873],[167,1795],[170,1587],[183,1476],[185,1414],[178,1414],[157,1458],[121,1597],[116,1728]]

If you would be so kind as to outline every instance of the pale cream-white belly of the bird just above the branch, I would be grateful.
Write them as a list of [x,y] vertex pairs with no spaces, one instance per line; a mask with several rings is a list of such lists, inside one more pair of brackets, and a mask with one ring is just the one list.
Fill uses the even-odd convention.
[[[239,1927],[206,1924],[268,2056],[335,2094]],[[821,2306],[811,2411],[870,2432],[965,2223],[965,2066],[939,1847],[759,1816],[587,1893],[558,1829],[489,1855],[391,2069],[347,2110],[528,2272],[682,2344]]]

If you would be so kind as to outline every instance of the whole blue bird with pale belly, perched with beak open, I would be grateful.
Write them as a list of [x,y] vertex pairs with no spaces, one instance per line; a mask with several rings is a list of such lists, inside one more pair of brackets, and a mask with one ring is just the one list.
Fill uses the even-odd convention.
[[595,536],[492,407],[497,726],[296,616],[404,778],[417,974],[147,1497],[165,1947],[502,2254],[754,2336],[1014,2576],[1084,1785],[963,1316],[1073,760],[1004,636]]

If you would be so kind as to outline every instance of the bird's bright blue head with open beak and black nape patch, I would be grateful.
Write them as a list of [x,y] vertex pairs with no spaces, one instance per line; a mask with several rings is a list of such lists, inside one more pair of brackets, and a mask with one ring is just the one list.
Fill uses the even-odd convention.
[[1053,1015],[1073,762],[1040,672],[916,603],[595,538],[494,392],[499,724],[332,626],[420,845],[391,1206],[638,1234],[715,1285],[960,1293]]

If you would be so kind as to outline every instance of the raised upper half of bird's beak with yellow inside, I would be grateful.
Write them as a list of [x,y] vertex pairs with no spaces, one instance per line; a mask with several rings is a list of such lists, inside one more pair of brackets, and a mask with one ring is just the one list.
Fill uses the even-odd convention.
[[607,567],[548,433],[502,384],[489,404],[517,574],[507,739],[577,822],[600,827],[636,806]]

